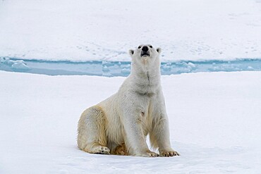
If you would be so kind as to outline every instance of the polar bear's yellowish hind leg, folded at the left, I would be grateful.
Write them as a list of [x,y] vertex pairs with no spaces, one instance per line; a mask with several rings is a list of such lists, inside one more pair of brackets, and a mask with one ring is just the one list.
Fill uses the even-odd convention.
[[106,118],[102,108],[87,108],[78,122],[78,147],[91,154],[109,154],[105,133]]

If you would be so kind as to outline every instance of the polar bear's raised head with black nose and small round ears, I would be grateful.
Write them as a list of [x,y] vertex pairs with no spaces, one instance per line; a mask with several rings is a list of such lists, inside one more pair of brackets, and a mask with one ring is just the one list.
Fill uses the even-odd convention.
[[155,66],[159,64],[159,54],[162,49],[154,47],[150,44],[142,44],[137,49],[130,49],[128,52],[132,58],[132,62],[140,66]]

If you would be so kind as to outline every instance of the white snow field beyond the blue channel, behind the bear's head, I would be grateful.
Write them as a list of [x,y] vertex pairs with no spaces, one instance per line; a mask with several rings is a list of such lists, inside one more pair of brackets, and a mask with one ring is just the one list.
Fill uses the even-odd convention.
[[0,56],[130,61],[162,47],[162,61],[260,58],[260,0],[3,0]]

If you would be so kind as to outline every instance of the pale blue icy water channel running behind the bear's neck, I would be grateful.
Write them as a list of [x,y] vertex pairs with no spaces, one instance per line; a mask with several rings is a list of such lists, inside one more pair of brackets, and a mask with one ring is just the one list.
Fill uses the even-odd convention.
[[[44,75],[127,76],[130,62],[123,61],[42,61],[0,57],[0,70]],[[241,58],[232,61],[171,61],[162,62],[162,75],[181,73],[261,70],[260,58]]]

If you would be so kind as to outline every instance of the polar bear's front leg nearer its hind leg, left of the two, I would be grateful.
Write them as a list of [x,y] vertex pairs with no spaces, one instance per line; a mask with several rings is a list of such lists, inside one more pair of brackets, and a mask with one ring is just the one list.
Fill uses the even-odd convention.
[[121,120],[123,121],[123,127],[126,132],[126,146],[129,149],[130,155],[133,156],[145,156],[156,157],[159,154],[150,151],[147,147],[145,135],[142,130],[141,114],[136,108],[127,107],[123,111]]

